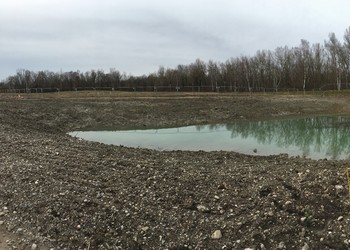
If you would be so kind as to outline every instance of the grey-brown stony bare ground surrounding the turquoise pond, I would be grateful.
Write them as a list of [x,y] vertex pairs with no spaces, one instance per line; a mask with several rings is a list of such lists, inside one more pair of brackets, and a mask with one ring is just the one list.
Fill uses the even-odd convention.
[[349,249],[346,161],[82,141],[153,128],[350,114],[347,96],[0,95],[0,249]]

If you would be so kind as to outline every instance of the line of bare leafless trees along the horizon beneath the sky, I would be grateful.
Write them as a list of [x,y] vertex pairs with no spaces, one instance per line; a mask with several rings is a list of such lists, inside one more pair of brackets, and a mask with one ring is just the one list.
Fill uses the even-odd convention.
[[3,91],[110,89],[129,91],[307,91],[348,89],[350,27],[342,40],[330,33],[323,44],[302,39],[296,47],[259,50],[226,62],[197,59],[176,68],[160,66],[148,75],[126,75],[112,68],[33,72],[18,69],[0,84]]

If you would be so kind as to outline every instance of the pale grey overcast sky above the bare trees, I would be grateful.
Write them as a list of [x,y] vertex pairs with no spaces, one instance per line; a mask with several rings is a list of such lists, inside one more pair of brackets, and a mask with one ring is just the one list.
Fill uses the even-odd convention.
[[142,75],[197,58],[343,40],[349,0],[0,0],[0,80],[17,69]]

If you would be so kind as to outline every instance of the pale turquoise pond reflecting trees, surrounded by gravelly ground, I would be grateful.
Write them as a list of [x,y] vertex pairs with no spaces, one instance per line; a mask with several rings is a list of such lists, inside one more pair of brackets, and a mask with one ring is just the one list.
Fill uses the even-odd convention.
[[157,150],[225,150],[251,155],[287,153],[312,159],[348,159],[350,154],[350,117],[344,116],[69,134],[106,144]]

